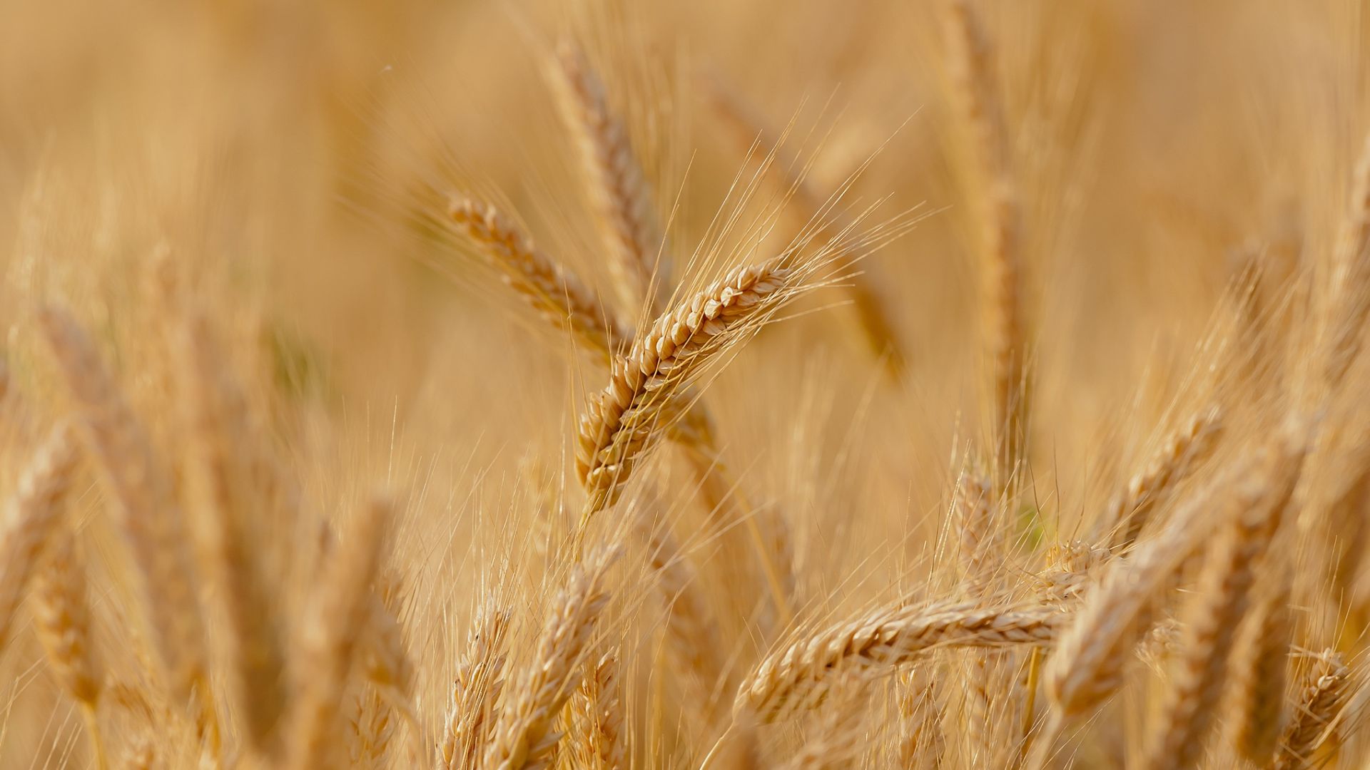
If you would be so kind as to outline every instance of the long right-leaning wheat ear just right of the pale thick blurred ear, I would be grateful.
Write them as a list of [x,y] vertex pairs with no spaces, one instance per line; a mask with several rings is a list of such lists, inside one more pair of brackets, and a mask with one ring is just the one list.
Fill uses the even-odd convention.
[[1226,522],[1204,559],[1199,591],[1185,614],[1178,670],[1151,740],[1148,767],[1193,767],[1203,758],[1228,675],[1236,630],[1249,606],[1256,566],[1284,519],[1307,451],[1299,430],[1277,440],[1258,473],[1232,489]]

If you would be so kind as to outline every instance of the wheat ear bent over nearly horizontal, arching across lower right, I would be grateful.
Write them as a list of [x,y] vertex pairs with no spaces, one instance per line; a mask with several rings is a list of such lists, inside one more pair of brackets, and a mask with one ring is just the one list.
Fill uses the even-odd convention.
[[936,647],[1049,644],[1062,618],[1043,606],[884,607],[766,656],[738,688],[733,712],[771,722],[821,703],[837,671],[888,674]]

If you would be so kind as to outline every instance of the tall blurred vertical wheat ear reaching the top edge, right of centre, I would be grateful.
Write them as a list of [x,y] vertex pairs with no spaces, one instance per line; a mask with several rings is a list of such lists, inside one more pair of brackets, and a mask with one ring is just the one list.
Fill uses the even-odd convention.
[[992,362],[992,415],[999,436],[999,484],[1007,484],[1028,425],[1021,212],[1010,162],[1008,127],[995,85],[993,47],[969,0],[947,5],[948,71],[959,97],[984,184],[984,312]]

